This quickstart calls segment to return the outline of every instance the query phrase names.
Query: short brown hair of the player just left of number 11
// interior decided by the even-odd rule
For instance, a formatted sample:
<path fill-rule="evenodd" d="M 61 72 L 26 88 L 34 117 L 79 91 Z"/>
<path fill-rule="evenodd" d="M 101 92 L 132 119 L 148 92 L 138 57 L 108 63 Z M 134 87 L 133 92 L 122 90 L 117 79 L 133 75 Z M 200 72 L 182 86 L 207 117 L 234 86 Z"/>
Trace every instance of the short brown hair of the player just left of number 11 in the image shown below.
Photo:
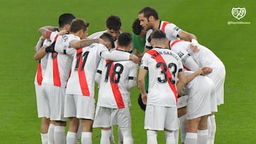
<path fill-rule="evenodd" d="M 83 20 L 81 18 L 75 18 L 70 23 L 70 32 L 71 33 L 77 33 L 81 29 L 83 31 L 86 31 L 88 26 L 89 26 L 89 23 L 87 23 L 85 20 Z"/>

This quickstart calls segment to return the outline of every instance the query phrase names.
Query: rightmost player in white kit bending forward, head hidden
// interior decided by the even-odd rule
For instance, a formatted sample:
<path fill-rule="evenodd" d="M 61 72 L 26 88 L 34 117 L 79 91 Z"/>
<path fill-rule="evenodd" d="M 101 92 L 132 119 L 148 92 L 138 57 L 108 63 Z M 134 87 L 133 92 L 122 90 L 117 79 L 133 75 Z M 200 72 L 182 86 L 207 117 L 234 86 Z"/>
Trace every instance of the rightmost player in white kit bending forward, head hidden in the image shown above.
<path fill-rule="evenodd" d="M 225 66 L 223 62 L 208 48 L 198 45 L 195 52 L 191 48 L 191 43 L 185 40 L 174 40 L 170 43 L 171 50 L 174 50 L 183 60 L 183 65 L 189 70 L 197 70 L 198 67 L 211 67 L 213 72 L 206 74 L 213 80 L 216 90 L 216 103 L 218 105 L 224 103 L 224 82 L 225 82 Z M 192 58 L 193 57 L 193 58 Z M 212 100 L 212 102 L 214 99 Z M 208 118 L 208 135 L 210 143 L 214 143 L 216 124 L 215 116 L 212 114 Z"/>

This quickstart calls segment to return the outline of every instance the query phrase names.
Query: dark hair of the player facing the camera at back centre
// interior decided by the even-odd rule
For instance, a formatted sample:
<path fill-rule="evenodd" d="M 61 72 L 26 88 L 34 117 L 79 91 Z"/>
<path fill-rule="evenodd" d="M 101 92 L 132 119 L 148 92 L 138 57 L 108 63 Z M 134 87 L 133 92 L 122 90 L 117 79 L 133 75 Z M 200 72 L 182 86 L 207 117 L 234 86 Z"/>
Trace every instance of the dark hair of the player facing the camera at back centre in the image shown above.
<path fill-rule="evenodd" d="M 109 16 L 106 21 L 106 26 L 110 30 L 119 31 L 122 26 L 121 19 L 118 16 Z"/>

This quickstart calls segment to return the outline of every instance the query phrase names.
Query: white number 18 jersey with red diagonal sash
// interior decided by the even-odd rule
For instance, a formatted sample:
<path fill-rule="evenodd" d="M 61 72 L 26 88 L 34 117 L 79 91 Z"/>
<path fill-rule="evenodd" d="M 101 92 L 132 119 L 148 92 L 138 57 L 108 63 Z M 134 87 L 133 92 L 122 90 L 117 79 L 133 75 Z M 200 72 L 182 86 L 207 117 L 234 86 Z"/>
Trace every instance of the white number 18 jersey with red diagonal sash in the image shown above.
<path fill-rule="evenodd" d="M 114 50 L 113 54 L 122 54 Z M 137 65 L 132 61 L 105 60 L 98 70 L 102 72 L 97 106 L 122 109 L 129 107 L 129 91 L 136 84 Z"/>

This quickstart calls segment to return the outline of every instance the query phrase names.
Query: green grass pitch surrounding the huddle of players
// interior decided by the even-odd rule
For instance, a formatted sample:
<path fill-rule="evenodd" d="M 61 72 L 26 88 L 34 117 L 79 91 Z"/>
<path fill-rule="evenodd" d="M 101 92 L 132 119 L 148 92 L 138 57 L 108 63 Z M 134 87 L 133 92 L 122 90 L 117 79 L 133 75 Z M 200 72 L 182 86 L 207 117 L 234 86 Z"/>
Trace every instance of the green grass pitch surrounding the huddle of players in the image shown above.
<path fill-rule="evenodd" d="M 38 28 L 57 26 L 61 13 L 74 13 L 90 23 L 89 33 L 105 29 L 111 14 L 122 19 L 124 31 L 131 32 L 132 22 L 144 6 L 154 6 L 162 20 L 175 23 L 197 36 L 199 43 L 215 52 L 226 67 L 225 104 L 216 113 L 215 143 L 254 143 L 255 111 L 255 40 L 256 2 L 247 1 L 13 1 L 0 5 L 0 143 L 40 143 L 40 123 L 36 112 L 33 79 L 36 61 L 33 47 L 39 38 Z M 228 25 L 238 21 L 233 7 L 245 7 L 240 21 L 250 25 Z M 137 106 L 137 88 L 132 90 L 132 131 L 134 143 L 146 143 L 144 112 Z M 94 143 L 100 130 L 93 132 Z M 117 138 L 117 137 L 116 137 Z M 159 143 L 164 143 L 159 133 Z"/>

